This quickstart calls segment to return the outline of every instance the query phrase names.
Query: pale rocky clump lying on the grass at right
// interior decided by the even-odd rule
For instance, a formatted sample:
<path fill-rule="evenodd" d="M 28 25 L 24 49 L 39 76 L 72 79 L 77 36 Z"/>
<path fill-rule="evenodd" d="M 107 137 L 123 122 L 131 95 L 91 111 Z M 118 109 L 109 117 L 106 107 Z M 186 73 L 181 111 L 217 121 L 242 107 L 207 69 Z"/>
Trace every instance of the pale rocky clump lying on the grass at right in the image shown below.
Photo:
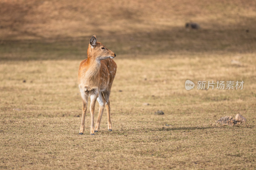
<path fill-rule="evenodd" d="M 236 124 L 240 125 L 246 123 L 246 119 L 242 115 L 237 114 L 235 119 L 232 116 L 225 116 L 217 120 L 216 123 L 220 125 L 233 126 Z"/>

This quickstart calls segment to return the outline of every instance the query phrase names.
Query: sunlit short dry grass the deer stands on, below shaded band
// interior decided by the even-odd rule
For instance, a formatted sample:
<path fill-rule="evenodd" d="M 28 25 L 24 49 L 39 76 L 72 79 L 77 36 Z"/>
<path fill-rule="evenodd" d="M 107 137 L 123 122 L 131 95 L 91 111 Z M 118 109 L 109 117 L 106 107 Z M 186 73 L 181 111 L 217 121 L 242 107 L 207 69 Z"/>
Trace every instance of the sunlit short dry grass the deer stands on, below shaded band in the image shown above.
<path fill-rule="evenodd" d="M 88 113 L 85 134 L 78 135 L 79 61 L 2 62 L 1 168 L 253 169 L 255 58 L 241 56 L 240 67 L 230 64 L 232 58 L 116 58 L 110 98 L 113 131 L 108 132 L 104 114 L 93 137 Z M 245 83 L 243 90 L 187 91 L 186 79 Z M 164 115 L 154 115 L 157 110 Z M 248 125 L 213 124 L 237 113 Z"/>

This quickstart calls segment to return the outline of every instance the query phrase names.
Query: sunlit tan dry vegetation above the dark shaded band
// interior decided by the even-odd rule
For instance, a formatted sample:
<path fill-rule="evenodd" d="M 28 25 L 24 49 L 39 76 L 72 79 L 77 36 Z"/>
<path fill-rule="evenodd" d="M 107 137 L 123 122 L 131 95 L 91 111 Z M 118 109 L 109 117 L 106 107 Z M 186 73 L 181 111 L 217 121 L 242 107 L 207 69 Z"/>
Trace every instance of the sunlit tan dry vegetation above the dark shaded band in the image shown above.
<path fill-rule="evenodd" d="M 214 2 L 214 3 L 213 3 Z M 35 1 L 1 0 L 1 37 L 38 39 L 116 35 L 184 26 L 253 29 L 255 1 Z M 254 22 L 254 23 L 253 23 Z"/>

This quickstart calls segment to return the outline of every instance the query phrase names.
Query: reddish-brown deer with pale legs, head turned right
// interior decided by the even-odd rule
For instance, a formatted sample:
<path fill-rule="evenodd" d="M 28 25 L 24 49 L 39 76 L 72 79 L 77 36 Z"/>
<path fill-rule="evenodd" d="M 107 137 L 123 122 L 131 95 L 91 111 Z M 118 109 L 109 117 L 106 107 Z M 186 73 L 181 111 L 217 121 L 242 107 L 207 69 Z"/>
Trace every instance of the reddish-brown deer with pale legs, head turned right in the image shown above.
<path fill-rule="evenodd" d="M 110 101 L 109 95 L 112 83 L 116 76 L 116 63 L 113 58 L 116 54 L 109 50 L 102 43 L 97 42 L 96 35 L 93 35 L 89 41 L 87 49 L 87 59 L 80 63 L 78 70 L 78 86 L 82 97 L 82 121 L 79 135 L 84 134 L 85 113 L 87 111 L 88 97 L 90 96 L 91 105 L 91 130 L 90 134 L 98 132 L 100 121 L 104 111 L 107 109 L 108 130 L 112 131 L 110 119 Z M 94 108 L 96 100 L 99 102 L 99 115 L 94 127 Z"/>

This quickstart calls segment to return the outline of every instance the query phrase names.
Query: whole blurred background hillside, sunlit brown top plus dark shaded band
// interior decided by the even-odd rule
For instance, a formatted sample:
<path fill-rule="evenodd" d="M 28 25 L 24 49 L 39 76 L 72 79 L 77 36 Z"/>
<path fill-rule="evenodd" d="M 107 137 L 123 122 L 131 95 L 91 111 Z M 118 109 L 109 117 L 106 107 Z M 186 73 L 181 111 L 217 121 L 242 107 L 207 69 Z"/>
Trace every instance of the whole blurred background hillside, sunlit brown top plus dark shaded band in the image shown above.
<path fill-rule="evenodd" d="M 80 59 L 93 34 L 121 57 L 256 50 L 253 0 L 0 0 L 0 7 L 4 60 Z M 201 28 L 185 29 L 190 21 Z"/>

